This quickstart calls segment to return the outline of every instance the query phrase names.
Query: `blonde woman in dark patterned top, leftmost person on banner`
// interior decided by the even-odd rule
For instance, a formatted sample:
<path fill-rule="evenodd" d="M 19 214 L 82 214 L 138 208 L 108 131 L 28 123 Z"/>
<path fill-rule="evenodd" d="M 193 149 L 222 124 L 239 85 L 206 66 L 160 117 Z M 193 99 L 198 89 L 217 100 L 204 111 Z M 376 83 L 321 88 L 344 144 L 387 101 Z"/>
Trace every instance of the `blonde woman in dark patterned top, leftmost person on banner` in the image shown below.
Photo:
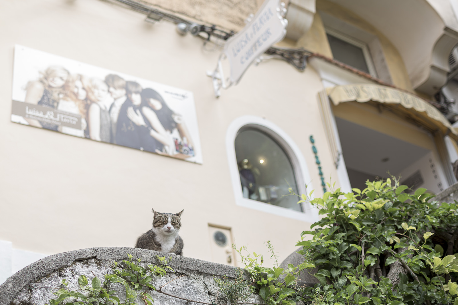
<path fill-rule="evenodd" d="M 27 84 L 24 102 L 56 109 L 70 72 L 61 66 L 50 66 L 44 72 L 40 72 L 40 74 L 42 76 L 39 80 L 31 81 Z M 52 123 L 40 123 L 34 119 L 26 120 L 30 125 L 35 127 L 43 127 L 56 131 L 59 127 Z"/>

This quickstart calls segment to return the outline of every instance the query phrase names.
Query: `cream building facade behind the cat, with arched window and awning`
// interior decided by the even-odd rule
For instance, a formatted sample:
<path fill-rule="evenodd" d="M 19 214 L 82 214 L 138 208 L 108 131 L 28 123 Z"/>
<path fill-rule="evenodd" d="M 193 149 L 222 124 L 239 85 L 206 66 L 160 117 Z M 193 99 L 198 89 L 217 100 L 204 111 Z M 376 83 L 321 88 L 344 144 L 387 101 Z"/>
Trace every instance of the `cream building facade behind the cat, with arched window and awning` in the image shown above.
<path fill-rule="evenodd" d="M 224 36 L 240 31 L 262 2 L 0 2 L 0 280 L 46 255 L 134 246 L 151 228 L 152 208 L 185 210 L 185 256 L 237 265 L 232 243 L 268 257 L 263 243 L 270 240 L 285 258 L 319 219 L 309 203 L 284 196 L 289 187 L 321 196 L 326 182 L 350 191 L 387 171 L 431 193 L 456 182 L 458 133 L 450 107 L 437 98 L 458 43 L 454 2 L 290 0 L 278 52 L 263 55 L 216 98 L 207 71 L 224 39 L 180 35 L 177 23 L 187 22 L 181 33 L 192 23 L 214 24 Z M 27 126 L 33 123 L 14 117 L 11 105 L 30 92 L 16 70 L 18 50 L 29 49 L 68 59 L 75 71 L 104 69 L 191 92 L 195 108 L 180 114 L 195 118 L 199 144 L 189 147 L 201 159 L 178 160 L 182 148 L 171 158 L 165 148 L 103 143 L 110 141 L 92 131 L 71 136 Z M 24 69 L 40 70 L 36 63 Z"/>

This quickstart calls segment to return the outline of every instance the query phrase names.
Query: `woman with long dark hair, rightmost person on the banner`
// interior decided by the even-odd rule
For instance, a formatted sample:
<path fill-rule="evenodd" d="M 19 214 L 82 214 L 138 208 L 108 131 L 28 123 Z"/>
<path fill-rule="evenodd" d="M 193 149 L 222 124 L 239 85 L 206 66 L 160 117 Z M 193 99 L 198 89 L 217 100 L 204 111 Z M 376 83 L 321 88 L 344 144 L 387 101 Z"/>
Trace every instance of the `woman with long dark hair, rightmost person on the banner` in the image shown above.
<path fill-rule="evenodd" d="M 157 153 L 180 159 L 194 155 L 194 145 L 183 118 L 167 106 L 157 91 L 151 88 L 142 91 L 141 112 L 152 127 L 150 136 L 163 144 L 164 149 L 158 149 Z M 146 124 L 139 112 L 128 112 L 128 116 L 138 126 Z"/>

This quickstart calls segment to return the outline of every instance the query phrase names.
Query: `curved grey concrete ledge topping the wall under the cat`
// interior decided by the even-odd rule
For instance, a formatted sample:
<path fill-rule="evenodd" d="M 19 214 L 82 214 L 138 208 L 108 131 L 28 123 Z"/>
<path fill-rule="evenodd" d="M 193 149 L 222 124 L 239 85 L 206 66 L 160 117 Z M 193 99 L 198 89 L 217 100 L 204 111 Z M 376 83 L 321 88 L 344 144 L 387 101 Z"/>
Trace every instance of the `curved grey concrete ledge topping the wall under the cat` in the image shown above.
<path fill-rule="evenodd" d="M 68 268 L 74 262 L 94 258 L 97 261 L 119 261 L 128 259 L 127 254 L 136 257 L 140 253 L 142 262 L 157 264 L 159 257 L 169 257 L 170 253 L 157 252 L 146 249 L 128 247 L 100 247 L 81 249 L 63 252 L 44 257 L 27 267 L 13 274 L 3 284 L 0 285 L 0 305 L 15 304 L 14 300 L 21 290 L 27 288 L 30 283 L 36 282 L 41 278 L 49 277 L 61 268 Z M 190 274 L 206 274 L 207 276 L 223 276 L 236 278 L 236 267 L 221 265 L 214 262 L 207 262 L 191 257 L 173 256 L 169 266 L 177 272 Z M 55 289 L 57 290 L 57 289 Z M 46 300 L 47 301 L 47 300 Z M 21 303 L 21 302 L 20 302 Z"/>

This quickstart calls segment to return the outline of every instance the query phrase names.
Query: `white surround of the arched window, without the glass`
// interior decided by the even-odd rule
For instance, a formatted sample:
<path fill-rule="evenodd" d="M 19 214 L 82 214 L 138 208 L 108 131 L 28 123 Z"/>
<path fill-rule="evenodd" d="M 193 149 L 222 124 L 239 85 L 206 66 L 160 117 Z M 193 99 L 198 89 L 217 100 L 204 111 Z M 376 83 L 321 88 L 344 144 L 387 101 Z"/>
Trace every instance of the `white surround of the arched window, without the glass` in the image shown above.
<path fill-rule="evenodd" d="M 243 197 L 242 187 L 240 184 L 240 173 L 237 165 L 237 158 L 235 156 L 235 138 L 239 134 L 240 130 L 243 130 L 243 128 L 254 128 L 272 137 L 284 149 L 289 157 L 291 166 L 293 166 L 294 177 L 296 178 L 299 194 L 304 194 L 306 191 L 310 193 L 313 190 L 304 156 L 302 155 L 299 147 L 294 143 L 293 139 L 291 139 L 289 135 L 277 125 L 264 118 L 256 116 L 242 116 L 236 118 L 232 123 L 230 123 L 226 133 L 226 151 L 232 187 L 234 190 L 235 204 L 290 219 L 306 222 L 317 221 L 319 219 L 318 211 L 316 208 L 313 208 L 310 203 L 302 203 L 304 212 L 298 212 Z M 305 184 L 307 184 L 306 190 Z"/>

